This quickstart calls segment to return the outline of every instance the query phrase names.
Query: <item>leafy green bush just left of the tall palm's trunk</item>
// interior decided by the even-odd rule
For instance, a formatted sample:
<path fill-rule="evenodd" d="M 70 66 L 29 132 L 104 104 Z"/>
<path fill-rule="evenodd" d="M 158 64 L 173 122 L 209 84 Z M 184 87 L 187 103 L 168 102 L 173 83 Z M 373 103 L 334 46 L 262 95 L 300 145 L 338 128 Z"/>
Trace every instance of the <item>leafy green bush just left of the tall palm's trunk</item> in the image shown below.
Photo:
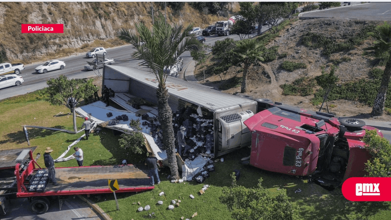
<path fill-rule="evenodd" d="M 120 147 L 127 150 L 126 157 L 129 158 L 129 154 L 135 161 L 128 161 L 130 163 L 142 163 L 147 156 L 147 148 L 145 147 L 145 139 L 140 132 L 140 120 L 132 119 L 129 126 L 134 130 L 132 134 L 121 134 L 119 139 Z"/>

